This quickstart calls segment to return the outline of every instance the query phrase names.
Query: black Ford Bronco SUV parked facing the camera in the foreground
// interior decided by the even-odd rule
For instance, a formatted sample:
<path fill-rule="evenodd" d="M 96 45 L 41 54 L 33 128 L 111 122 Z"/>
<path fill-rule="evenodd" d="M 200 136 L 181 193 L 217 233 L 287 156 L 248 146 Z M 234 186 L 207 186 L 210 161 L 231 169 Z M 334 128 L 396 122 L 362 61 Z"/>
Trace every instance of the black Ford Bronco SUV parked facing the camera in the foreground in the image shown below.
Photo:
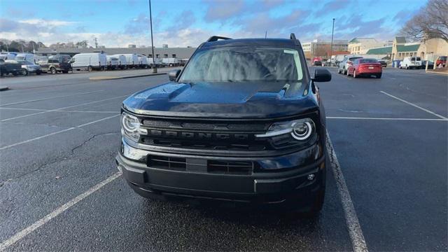
<path fill-rule="evenodd" d="M 325 112 L 300 42 L 212 36 L 121 109 L 118 169 L 139 195 L 284 205 L 325 195 Z M 250 204 L 253 206 L 253 204 Z"/>

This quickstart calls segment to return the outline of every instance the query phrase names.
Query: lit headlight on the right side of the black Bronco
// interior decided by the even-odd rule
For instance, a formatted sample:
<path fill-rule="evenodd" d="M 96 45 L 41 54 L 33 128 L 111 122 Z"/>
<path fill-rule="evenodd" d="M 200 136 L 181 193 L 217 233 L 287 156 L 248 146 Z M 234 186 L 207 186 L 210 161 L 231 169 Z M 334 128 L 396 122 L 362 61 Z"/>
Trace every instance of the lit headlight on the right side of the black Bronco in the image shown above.
<path fill-rule="evenodd" d="M 294 139 L 304 141 L 309 139 L 316 131 L 313 120 L 304 118 L 290 122 L 274 123 L 265 134 L 256 134 L 255 137 L 275 137 L 290 134 Z"/>

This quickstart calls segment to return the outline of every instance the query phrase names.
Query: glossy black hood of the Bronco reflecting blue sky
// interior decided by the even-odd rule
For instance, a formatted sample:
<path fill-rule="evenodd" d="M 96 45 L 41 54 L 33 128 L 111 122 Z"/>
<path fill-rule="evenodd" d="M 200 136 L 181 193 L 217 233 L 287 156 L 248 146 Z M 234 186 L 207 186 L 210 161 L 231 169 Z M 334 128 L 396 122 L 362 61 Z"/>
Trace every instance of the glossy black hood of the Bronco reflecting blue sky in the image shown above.
<path fill-rule="evenodd" d="M 300 83 L 165 83 L 132 94 L 124 109 L 137 114 L 207 118 L 279 118 L 317 109 Z"/>

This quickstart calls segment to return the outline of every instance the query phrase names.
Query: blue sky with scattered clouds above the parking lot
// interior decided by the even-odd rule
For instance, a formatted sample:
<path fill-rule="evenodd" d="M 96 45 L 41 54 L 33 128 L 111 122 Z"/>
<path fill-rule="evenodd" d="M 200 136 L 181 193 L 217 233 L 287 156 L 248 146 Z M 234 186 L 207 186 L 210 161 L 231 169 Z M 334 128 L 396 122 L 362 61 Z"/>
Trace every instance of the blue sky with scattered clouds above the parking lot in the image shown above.
<path fill-rule="evenodd" d="M 426 0 L 152 0 L 154 43 L 197 46 L 211 35 L 288 37 L 302 42 L 391 39 Z M 151 45 L 148 0 L 0 0 L 0 38 L 82 40 L 107 47 Z"/>

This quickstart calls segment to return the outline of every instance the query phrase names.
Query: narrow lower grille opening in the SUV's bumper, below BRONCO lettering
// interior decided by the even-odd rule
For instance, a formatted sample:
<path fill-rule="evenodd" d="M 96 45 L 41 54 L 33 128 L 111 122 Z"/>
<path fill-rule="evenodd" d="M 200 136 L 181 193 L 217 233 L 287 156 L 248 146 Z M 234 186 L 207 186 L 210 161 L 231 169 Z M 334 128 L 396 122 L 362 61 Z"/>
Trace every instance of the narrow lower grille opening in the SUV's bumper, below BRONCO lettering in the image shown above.
<path fill-rule="evenodd" d="M 202 160 L 197 158 L 174 158 L 148 155 L 148 167 L 181 172 L 209 174 L 250 175 L 254 169 L 251 161 Z"/>

